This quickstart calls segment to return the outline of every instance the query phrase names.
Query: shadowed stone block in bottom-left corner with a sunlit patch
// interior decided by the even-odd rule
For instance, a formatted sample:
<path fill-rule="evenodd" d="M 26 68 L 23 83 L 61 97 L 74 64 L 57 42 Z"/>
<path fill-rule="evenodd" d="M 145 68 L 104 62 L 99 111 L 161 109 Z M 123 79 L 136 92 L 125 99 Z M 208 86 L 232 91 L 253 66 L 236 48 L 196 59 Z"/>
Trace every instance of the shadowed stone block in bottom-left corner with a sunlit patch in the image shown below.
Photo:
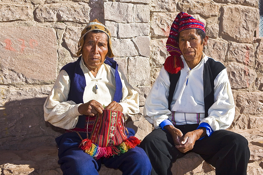
<path fill-rule="evenodd" d="M 2 158 L 1 169 L 7 174 L 62 174 L 57 163 L 56 146 L 40 146 L 33 150 L 1 150 L 0 153 L 5 157 Z"/>

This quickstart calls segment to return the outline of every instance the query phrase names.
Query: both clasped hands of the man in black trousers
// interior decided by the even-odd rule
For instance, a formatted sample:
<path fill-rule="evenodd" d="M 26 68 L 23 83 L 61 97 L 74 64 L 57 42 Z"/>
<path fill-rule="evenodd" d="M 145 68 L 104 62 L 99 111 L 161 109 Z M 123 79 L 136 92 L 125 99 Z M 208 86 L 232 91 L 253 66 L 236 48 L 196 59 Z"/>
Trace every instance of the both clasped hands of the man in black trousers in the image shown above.
<path fill-rule="evenodd" d="M 174 145 L 180 152 L 186 153 L 193 149 L 195 141 L 206 135 L 206 129 L 200 127 L 200 129 L 191 131 L 183 135 L 183 133 L 175 128 L 173 125 L 166 125 L 164 127 L 173 137 Z"/>

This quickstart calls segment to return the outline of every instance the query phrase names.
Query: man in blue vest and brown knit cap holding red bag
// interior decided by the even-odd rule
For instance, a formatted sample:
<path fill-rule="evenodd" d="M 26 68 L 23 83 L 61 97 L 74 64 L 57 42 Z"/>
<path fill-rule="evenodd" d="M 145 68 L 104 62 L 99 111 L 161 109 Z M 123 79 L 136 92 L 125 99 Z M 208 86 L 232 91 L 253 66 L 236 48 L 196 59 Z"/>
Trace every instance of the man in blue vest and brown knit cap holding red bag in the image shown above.
<path fill-rule="evenodd" d="M 78 46 L 77 56 L 82 56 L 60 70 L 44 104 L 45 121 L 66 131 L 55 139 L 63 174 L 98 174 L 101 164 L 123 174 L 150 174 L 148 156 L 130 139 L 134 130 L 124 132 L 122 116 L 139 112 L 139 96 L 112 58 L 109 30 L 97 19 L 91 21 Z M 105 112 L 110 119 L 102 117 Z M 100 135 L 103 131 L 108 135 Z M 120 145 L 113 144 L 118 141 Z"/>

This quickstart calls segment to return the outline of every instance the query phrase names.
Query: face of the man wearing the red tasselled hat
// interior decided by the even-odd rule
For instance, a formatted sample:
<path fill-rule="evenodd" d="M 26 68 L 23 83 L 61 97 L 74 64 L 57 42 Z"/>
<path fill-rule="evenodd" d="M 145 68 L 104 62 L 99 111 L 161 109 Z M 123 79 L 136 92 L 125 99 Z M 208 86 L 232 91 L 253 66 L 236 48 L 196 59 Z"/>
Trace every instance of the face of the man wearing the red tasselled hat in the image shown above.
<path fill-rule="evenodd" d="M 200 35 L 197 35 L 195 30 L 187 29 L 179 34 L 179 48 L 186 62 L 194 61 L 199 63 L 202 58 L 203 47 L 207 43 L 208 37 L 206 36 L 202 43 Z"/>

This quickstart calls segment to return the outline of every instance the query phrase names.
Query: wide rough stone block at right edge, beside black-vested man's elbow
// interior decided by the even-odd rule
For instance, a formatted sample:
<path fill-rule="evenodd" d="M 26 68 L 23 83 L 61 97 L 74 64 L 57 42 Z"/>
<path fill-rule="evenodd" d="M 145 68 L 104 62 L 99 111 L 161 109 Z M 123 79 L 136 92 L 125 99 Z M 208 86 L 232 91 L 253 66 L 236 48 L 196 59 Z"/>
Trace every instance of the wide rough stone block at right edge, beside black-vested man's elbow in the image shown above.
<path fill-rule="evenodd" d="M 241 92 L 237 95 L 236 106 L 240 108 L 240 113 L 252 114 L 252 115 L 260 114 L 260 116 L 263 117 L 262 99 L 263 99 L 263 93 L 260 91 Z"/>

